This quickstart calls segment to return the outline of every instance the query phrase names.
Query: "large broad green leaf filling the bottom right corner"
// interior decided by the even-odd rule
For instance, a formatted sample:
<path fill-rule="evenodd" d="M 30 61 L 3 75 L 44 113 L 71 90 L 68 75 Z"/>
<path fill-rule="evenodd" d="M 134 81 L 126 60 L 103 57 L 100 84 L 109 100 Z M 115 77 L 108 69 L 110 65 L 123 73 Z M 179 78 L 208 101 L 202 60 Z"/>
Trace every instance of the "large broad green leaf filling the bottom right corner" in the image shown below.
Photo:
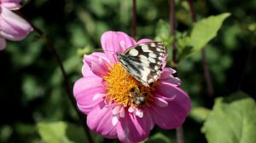
<path fill-rule="evenodd" d="M 238 92 L 218 98 L 202 132 L 209 143 L 256 142 L 256 104 L 247 94 Z"/>

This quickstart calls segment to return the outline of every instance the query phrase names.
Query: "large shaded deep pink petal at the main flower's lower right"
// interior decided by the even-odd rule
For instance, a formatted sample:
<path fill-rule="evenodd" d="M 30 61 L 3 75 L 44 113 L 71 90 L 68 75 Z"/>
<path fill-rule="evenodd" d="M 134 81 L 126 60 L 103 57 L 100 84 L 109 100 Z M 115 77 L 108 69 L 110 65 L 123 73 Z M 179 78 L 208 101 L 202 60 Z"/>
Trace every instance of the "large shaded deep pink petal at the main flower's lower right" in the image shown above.
<path fill-rule="evenodd" d="M 188 94 L 171 83 L 160 83 L 156 85 L 155 89 L 155 93 L 173 99 L 167 100 L 167 107 L 151 106 L 154 123 L 162 129 L 178 128 L 183 124 L 191 110 Z"/>

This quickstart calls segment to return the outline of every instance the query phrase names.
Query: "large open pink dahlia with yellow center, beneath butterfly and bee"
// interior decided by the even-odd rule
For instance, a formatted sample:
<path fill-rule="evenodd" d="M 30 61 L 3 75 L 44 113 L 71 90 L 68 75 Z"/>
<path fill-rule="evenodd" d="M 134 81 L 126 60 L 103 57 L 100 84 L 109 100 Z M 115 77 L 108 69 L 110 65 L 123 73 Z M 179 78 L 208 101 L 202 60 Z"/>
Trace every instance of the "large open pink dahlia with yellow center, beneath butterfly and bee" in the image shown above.
<path fill-rule="evenodd" d="M 81 112 L 87 116 L 90 129 L 121 142 L 147 139 L 154 124 L 162 129 L 177 129 L 188 116 L 191 105 L 188 94 L 178 88 L 180 80 L 175 72 L 163 64 L 163 72 L 151 87 L 144 87 L 120 66 L 115 52 L 148 42 L 136 42 L 120 31 L 107 31 L 102 35 L 104 53 L 84 55 L 81 77 L 73 87 L 73 94 Z M 147 93 L 147 103 L 133 104 L 128 96 L 131 88 Z"/>

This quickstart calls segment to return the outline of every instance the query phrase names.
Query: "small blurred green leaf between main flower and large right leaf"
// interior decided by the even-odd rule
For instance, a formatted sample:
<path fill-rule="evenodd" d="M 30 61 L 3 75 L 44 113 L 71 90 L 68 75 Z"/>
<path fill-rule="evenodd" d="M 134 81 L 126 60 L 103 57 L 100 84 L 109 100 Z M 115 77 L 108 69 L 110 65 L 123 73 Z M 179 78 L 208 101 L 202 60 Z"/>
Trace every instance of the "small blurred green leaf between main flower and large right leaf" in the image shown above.
<path fill-rule="evenodd" d="M 211 110 L 205 108 L 205 107 L 195 107 L 192 108 L 189 117 L 192 117 L 197 122 L 203 122 L 207 119 L 209 113 Z"/>

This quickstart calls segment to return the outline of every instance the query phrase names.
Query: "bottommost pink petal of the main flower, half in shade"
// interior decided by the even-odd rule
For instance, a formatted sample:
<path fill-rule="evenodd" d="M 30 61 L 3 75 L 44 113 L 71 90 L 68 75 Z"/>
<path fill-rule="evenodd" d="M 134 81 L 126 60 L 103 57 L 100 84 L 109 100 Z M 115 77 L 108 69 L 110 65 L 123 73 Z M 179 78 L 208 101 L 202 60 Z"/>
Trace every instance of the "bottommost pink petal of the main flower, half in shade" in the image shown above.
<path fill-rule="evenodd" d="M 121 142 L 139 142 L 148 138 L 154 122 L 150 113 L 144 112 L 143 114 L 141 118 L 125 112 L 125 117 L 119 118 L 117 133 Z"/>

